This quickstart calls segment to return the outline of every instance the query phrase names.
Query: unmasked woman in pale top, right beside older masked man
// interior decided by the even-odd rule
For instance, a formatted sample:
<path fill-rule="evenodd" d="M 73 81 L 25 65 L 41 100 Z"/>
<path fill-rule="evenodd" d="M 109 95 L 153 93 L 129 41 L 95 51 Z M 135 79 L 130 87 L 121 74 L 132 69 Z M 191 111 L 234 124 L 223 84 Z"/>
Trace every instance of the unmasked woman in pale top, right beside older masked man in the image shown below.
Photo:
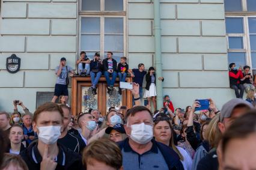
<path fill-rule="evenodd" d="M 171 147 L 180 157 L 184 170 L 190 170 L 192 168 L 192 158 L 183 148 L 174 145 L 174 130 L 172 129 L 169 117 L 166 117 L 165 114 L 159 114 L 154 118 L 153 130 L 156 141 Z"/>

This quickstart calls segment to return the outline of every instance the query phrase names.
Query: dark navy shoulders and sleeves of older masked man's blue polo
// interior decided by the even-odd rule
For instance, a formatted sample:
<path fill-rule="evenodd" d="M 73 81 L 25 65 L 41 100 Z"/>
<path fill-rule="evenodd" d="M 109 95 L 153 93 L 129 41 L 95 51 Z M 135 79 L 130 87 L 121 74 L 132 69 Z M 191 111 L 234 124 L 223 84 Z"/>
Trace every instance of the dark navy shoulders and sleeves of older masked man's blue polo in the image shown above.
<path fill-rule="evenodd" d="M 120 150 L 122 150 L 124 148 L 124 145 L 127 145 L 128 142 L 129 138 L 124 139 L 124 141 L 118 142 Z M 172 148 L 160 142 L 156 142 L 154 139 L 152 139 L 151 142 L 153 142 L 153 144 L 156 144 L 157 148 L 159 148 L 169 170 L 184 169 L 182 163 L 180 162 L 180 157 L 178 157 L 178 154 L 175 153 L 175 151 L 172 150 Z"/>

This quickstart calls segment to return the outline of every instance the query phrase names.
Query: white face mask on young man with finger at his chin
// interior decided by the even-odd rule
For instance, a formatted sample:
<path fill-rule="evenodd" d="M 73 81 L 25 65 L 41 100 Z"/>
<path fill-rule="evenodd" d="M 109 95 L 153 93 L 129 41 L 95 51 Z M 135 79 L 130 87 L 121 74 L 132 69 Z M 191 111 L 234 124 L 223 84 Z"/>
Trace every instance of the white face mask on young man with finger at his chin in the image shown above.
<path fill-rule="evenodd" d="M 38 139 L 47 145 L 54 144 L 61 136 L 61 126 L 41 126 L 37 129 Z"/>

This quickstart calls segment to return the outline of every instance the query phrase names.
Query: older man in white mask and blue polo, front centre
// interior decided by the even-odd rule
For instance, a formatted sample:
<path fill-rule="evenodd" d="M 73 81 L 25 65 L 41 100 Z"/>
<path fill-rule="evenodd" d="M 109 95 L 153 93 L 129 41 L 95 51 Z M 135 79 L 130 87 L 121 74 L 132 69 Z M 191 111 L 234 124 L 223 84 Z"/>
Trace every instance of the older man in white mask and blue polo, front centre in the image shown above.
<path fill-rule="evenodd" d="M 184 169 L 174 150 L 154 141 L 149 109 L 136 106 L 127 111 L 125 121 L 129 138 L 119 143 L 124 169 Z"/>

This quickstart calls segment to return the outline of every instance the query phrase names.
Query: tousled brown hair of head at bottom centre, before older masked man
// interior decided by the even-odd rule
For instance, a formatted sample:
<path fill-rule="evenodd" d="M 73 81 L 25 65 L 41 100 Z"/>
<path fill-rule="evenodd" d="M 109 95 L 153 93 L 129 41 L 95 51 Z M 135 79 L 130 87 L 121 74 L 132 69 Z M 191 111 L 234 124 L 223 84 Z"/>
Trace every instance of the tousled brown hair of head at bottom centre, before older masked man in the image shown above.
<path fill-rule="evenodd" d="M 88 164 L 93 165 L 92 159 L 103 162 L 115 169 L 120 169 L 123 163 L 120 148 L 115 142 L 105 138 L 93 141 L 85 148 L 82 155 L 84 168 Z"/>

